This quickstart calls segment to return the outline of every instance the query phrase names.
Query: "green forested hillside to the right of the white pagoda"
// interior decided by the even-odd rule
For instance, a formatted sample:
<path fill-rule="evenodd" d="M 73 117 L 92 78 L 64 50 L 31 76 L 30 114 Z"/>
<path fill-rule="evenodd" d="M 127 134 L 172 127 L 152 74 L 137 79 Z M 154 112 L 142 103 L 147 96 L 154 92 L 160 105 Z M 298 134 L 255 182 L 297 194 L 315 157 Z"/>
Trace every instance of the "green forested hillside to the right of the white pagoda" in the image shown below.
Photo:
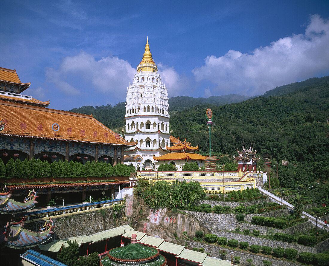
<path fill-rule="evenodd" d="M 195 106 L 171 115 L 170 127 L 175 137 L 187 138 L 198 144 L 201 152 L 208 152 L 205 113 L 211 108 L 217 126 L 212 128 L 215 153 L 236 155 L 242 145 L 252 146 L 261 156 L 290 162 L 278 170 L 283 186 L 292 186 L 294 181 L 326 181 L 329 177 L 328 94 L 329 82 L 322 82 L 283 96 L 257 97 L 220 107 Z"/>

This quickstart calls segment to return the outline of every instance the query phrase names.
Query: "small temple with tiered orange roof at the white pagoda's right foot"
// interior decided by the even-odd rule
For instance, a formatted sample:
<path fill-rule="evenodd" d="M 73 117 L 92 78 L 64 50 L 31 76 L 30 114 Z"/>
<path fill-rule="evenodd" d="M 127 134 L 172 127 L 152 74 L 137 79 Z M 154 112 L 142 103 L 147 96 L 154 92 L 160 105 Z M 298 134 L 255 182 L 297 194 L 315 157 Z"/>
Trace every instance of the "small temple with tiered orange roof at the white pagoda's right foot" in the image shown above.
<path fill-rule="evenodd" d="M 173 139 L 174 137 L 170 136 L 170 138 Z M 187 142 L 186 139 L 184 141 L 180 141 L 179 138 L 175 138 L 173 141 L 175 143 L 173 146 L 166 146 L 166 151 L 169 151 L 169 153 L 153 157 L 153 160 L 158 161 L 158 163 L 156 164 L 156 169 L 158 169 L 160 164 L 165 163 L 171 163 L 175 165 L 177 171 L 182 171 L 182 167 L 186 162 L 196 162 L 199 167 L 202 167 L 204 165 L 205 159 L 207 157 L 195 153 L 199 150 L 198 146 L 191 146 L 191 144 Z"/>

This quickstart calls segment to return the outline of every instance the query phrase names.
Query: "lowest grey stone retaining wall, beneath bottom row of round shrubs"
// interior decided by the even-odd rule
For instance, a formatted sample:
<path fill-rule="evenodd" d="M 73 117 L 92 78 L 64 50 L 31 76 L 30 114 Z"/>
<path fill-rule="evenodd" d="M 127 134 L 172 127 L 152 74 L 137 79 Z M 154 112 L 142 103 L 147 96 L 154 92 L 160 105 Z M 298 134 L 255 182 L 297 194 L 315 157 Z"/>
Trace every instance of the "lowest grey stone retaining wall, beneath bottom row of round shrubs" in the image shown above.
<path fill-rule="evenodd" d="M 180 240 L 180 244 L 181 245 L 185 245 L 185 243 L 189 246 L 189 248 L 204 248 L 205 249 L 205 253 L 209 253 L 211 254 L 211 256 L 214 257 L 219 257 L 220 258 L 220 254 L 219 251 L 220 250 L 226 250 L 227 251 L 227 255 L 226 255 L 226 259 L 230 260 L 231 258 L 231 252 L 233 252 L 233 256 L 239 256 L 241 257 L 240 259 L 240 264 L 241 265 L 249 265 L 249 263 L 246 261 L 246 259 L 250 258 L 252 259 L 252 263 L 251 264 L 255 264 L 256 266 L 264 266 L 263 264 L 263 260 L 268 260 L 272 262 L 272 266 L 300 266 L 301 264 L 297 264 L 294 262 L 290 262 L 290 261 L 285 261 L 285 260 L 281 260 L 281 259 L 277 259 L 277 258 L 269 258 L 266 255 L 263 254 L 254 254 L 248 251 L 240 251 L 240 250 L 233 250 L 233 249 L 229 249 L 229 248 L 222 248 L 220 246 L 217 245 L 212 245 L 212 244 L 207 244 L 207 243 L 199 243 L 193 240 Z"/>

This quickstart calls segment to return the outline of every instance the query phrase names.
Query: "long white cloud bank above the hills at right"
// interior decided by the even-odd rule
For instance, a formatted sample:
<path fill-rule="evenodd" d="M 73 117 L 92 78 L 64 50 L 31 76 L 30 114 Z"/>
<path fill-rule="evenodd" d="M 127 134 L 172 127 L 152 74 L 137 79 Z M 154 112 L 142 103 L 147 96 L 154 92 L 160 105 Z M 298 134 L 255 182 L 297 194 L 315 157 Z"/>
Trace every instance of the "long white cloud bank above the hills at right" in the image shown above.
<path fill-rule="evenodd" d="M 329 21 L 313 15 L 304 34 L 291 35 L 251 53 L 210 55 L 192 70 L 196 81 L 214 84 L 212 94 L 263 94 L 276 86 L 329 71 Z M 206 94 L 210 94 L 209 91 Z"/>

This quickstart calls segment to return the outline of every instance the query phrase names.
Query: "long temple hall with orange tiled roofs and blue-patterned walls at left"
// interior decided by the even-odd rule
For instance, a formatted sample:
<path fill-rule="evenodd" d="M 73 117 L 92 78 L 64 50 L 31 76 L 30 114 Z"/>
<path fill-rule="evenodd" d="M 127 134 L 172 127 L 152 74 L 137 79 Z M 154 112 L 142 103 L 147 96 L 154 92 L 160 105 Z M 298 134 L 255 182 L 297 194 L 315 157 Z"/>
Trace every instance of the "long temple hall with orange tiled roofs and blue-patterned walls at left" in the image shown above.
<path fill-rule="evenodd" d="M 20 94 L 31 83 L 21 83 L 16 70 L 0 68 L 0 159 L 123 162 L 123 151 L 135 147 L 92 115 L 45 108 L 32 96 Z"/>

